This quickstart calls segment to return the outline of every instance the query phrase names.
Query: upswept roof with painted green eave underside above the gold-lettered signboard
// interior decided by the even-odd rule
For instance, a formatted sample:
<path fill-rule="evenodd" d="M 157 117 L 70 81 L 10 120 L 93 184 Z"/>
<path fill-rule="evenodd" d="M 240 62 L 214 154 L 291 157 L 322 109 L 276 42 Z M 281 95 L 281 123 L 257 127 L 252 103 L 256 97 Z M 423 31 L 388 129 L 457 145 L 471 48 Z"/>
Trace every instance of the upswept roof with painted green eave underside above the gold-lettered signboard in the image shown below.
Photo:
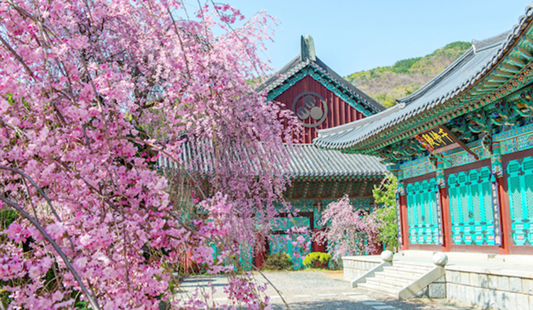
<path fill-rule="evenodd" d="M 533 7 L 511 31 L 474 42 L 465 54 L 397 106 L 318 131 L 319 148 L 373 153 L 512 94 L 531 82 Z"/>

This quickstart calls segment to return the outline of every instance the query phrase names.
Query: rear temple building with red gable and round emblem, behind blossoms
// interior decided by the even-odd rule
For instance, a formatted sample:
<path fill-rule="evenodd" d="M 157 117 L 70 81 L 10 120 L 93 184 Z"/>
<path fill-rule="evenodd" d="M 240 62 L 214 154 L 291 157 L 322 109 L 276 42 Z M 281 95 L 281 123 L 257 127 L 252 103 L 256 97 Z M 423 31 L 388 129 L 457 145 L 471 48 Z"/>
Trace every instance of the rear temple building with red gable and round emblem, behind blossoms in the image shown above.
<path fill-rule="evenodd" d="M 375 205 L 372 189 L 381 182 L 386 170 L 377 157 L 316 148 L 311 142 L 318 136 L 317 130 L 364 120 L 385 108 L 316 57 L 310 35 L 302 36 L 300 55 L 257 91 L 266 92 L 270 101 L 285 104 L 303 126 L 301 135 L 293 135 L 300 144 L 290 150 L 291 187 L 285 193 L 296 216 L 289 218 L 280 209 L 266 247 L 269 253 L 291 253 L 291 242 L 284 238 L 286 231 L 293 226 L 310 231 L 321 229 L 321 211 L 344 194 L 348 194 L 356 210 L 371 211 Z M 325 246 L 313 243 L 310 251 L 323 252 Z M 261 255 L 256 255 L 259 266 L 262 262 L 257 256 Z"/>

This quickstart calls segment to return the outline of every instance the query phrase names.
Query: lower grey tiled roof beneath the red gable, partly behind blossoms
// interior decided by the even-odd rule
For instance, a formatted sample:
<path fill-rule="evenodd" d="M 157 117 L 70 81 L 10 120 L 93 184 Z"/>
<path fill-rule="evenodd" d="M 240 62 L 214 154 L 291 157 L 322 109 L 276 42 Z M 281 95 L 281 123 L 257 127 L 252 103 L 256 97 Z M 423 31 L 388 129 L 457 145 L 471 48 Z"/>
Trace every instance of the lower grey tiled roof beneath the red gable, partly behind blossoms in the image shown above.
<path fill-rule="evenodd" d="M 311 144 L 285 145 L 290 164 L 287 175 L 291 177 L 372 177 L 384 175 L 387 168 L 381 160 L 370 155 L 348 155 L 339 151 L 321 150 Z M 178 160 L 188 170 L 202 175 L 214 172 L 214 156 L 208 147 L 191 147 L 183 144 L 183 152 Z M 247 153 L 248 156 L 251 156 Z M 160 157 L 161 168 L 177 168 L 176 162 L 168 157 Z"/>

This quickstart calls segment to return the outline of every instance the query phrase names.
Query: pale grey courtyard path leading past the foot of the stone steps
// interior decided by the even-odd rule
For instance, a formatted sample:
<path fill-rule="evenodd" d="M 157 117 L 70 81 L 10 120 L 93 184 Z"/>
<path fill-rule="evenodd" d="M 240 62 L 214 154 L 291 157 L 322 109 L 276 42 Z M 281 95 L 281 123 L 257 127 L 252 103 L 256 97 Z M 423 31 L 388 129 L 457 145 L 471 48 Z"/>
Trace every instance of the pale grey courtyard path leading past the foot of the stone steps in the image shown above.
<path fill-rule="evenodd" d="M 350 283 L 342 279 L 340 272 L 265 272 L 266 277 L 279 289 L 281 296 L 291 310 L 451 310 L 469 309 L 449 306 L 443 303 L 423 303 L 414 301 L 397 301 L 384 294 L 351 289 Z M 264 283 L 261 275 L 254 273 L 257 281 Z M 225 277 L 188 277 L 182 282 L 183 294 L 190 294 L 197 288 L 208 287 L 212 282 L 218 289 L 211 300 L 216 304 L 227 304 L 227 297 L 222 286 L 227 283 Z M 272 309 L 287 309 L 279 294 L 269 286 L 266 295 L 271 298 Z"/>

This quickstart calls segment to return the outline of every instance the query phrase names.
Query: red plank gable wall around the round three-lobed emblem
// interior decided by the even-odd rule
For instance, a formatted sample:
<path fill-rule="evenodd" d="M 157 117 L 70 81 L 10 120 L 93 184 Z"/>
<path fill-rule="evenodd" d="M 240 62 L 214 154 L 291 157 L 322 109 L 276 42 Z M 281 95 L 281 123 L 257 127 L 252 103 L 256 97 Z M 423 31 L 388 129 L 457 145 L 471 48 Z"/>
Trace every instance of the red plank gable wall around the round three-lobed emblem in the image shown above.
<path fill-rule="evenodd" d="M 350 123 L 352 121 L 357 121 L 358 119 L 364 118 L 359 111 L 352 108 L 350 104 L 340 99 L 338 96 L 330 92 L 327 88 L 323 87 L 322 84 L 316 82 L 311 76 L 306 76 L 300 81 L 296 82 L 292 87 L 287 89 L 285 92 L 277 96 L 274 101 L 282 102 L 286 105 L 286 109 L 292 110 L 293 101 L 302 92 L 316 92 L 320 94 L 326 104 L 328 105 L 328 116 L 326 116 L 325 121 L 315 128 L 303 128 L 303 133 L 298 138 L 298 143 L 311 143 L 314 138 L 318 135 L 316 133 L 317 129 L 331 128 L 334 126 L 343 125 L 345 123 Z M 296 103 L 296 109 L 303 106 L 303 96 L 298 99 Z M 321 104 L 317 102 L 317 106 L 321 107 Z M 307 118 L 305 123 L 315 123 L 311 117 Z"/>

